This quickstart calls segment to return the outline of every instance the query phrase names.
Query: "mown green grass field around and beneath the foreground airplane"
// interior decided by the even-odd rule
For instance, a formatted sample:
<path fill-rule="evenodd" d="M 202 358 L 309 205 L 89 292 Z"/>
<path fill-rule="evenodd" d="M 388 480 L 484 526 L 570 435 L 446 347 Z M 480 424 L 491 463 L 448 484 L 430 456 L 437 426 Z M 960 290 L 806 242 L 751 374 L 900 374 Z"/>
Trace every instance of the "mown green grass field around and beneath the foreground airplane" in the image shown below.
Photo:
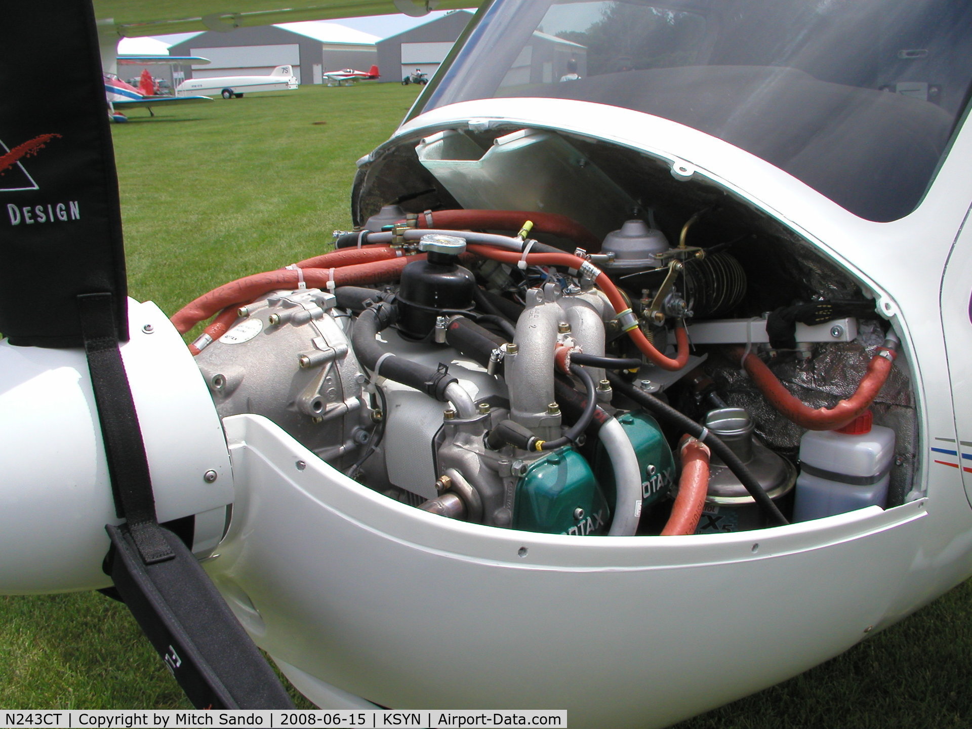
<path fill-rule="evenodd" d="M 355 160 L 416 94 L 303 87 L 156 119 L 133 112 L 114 127 L 130 294 L 171 314 L 232 278 L 326 250 L 330 231 L 350 225 Z M 972 726 L 970 611 L 966 583 L 843 656 L 679 729 Z M 188 706 L 120 604 L 96 593 L 0 597 L 0 707 Z"/>

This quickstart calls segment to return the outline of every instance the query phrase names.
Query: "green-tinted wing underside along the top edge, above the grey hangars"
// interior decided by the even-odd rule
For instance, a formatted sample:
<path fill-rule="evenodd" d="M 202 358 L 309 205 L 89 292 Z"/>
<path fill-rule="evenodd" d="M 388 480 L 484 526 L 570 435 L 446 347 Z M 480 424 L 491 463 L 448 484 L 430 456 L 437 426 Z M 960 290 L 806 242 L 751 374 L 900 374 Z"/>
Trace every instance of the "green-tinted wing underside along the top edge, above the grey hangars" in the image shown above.
<path fill-rule="evenodd" d="M 482 0 L 227 0 L 211 12 L 206 0 L 94 0 L 98 18 L 111 18 L 120 36 L 133 38 L 167 33 L 231 30 L 296 20 L 404 13 L 422 16 L 431 10 L 478 7 Z M 105 20 L 103 19 L 102 22 Z"/>

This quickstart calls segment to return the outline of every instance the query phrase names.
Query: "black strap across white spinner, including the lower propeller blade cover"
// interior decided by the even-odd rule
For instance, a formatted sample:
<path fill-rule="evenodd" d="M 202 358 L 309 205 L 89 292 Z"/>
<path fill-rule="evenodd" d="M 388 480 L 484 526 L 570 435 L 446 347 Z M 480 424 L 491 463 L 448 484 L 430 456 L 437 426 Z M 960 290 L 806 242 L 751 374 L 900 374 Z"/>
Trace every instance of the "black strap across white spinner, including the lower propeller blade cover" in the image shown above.
<path fill-rule="evenodd" d="M 94 401 L 118 515 L 107 571 L 124 604 L 199 709 L 291 709 L 190 549 L 156 520 L 145 445 L 115 333 L 113 295 L 78 296 Z"/>

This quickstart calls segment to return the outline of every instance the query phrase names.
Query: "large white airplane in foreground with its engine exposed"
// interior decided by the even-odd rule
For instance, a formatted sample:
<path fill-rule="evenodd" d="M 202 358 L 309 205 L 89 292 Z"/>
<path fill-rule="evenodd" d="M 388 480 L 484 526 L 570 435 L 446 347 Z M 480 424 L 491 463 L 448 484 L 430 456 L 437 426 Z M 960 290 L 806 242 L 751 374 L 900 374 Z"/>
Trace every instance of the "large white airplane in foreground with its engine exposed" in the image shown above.
<path fill-rule="evenodd" d="M 972 573 L 970 14 L 495 0 L 360 160 L 342 250 L 169 320 L 77 283 L 119 237 L 8 249 L 0 591 L 114 578 L 152 625 L 138 585 L 181 606 L 156 572 L 195 565 L 161 521 L 318 706 L 574 728 L 666 726 L 893 625 Z M 57 232 L 26 224 L 43 190 L 4 192 L 11 235 Z M 102 275 L 38 296 L 51 260 Z"/>

